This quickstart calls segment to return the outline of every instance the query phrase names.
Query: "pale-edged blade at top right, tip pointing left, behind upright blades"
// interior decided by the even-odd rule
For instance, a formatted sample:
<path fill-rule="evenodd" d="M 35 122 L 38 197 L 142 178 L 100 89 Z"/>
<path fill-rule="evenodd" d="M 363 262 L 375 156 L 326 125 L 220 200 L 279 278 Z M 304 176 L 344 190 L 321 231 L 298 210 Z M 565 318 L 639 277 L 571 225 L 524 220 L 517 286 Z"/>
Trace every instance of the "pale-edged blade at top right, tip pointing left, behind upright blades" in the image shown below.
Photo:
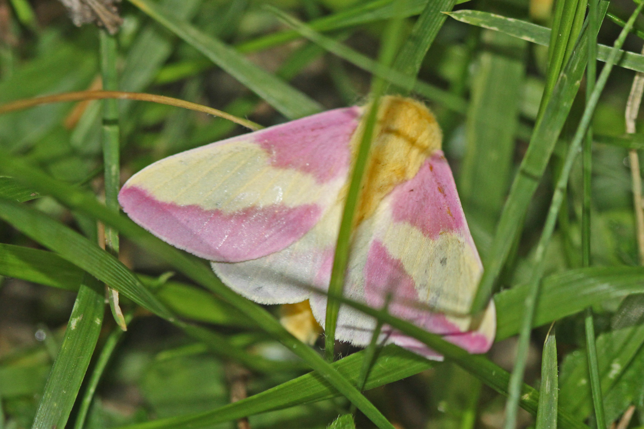
<path fill-rule="evenodd" d="M 600 9 L 603 7 L 600 6 Z M 544 46 L 549 44 L 550 29 L 538 24 L 478 10 L 459 10 L 450 12 L 448 15 L 463 23 L 497 30 L 532 43 Z M 616 66 L 635 70 L 636 72 L 644 72 L 644 55 L 630 51 L 620 51 L 620 53 L 621 56 L 617 64 L 615 64 Z M 599 61 L 607 61 L 610 54 L 610 46 L 605 44 L 597 45 L 597 59 Z"/>

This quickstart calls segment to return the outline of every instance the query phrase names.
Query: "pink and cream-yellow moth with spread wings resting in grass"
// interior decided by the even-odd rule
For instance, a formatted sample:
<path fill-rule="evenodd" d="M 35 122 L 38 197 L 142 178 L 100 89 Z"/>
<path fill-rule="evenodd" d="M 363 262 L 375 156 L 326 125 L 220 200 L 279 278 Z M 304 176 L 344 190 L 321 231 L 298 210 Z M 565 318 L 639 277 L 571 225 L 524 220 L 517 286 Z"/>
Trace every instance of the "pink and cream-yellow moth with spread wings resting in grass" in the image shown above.
<path fill-rule="evenodd" d="M 325 111 L 214 142 L 139 171 L 118 196 L 130 218 L 212 261 L 234 291 L 263 304 L 309 300 L 324 326 L 348 177 L 365 108 Z M 431 112 L 381 100 L 351 238 L 344 294 L 440 334 L 471 353 L 494 339 L 493 302 L 467 315 L 482 274 Z M 336 338 L 370 342 L 375 319 L 343 305 Z M 383 339 L 433 359 L 416 339 Z"/>

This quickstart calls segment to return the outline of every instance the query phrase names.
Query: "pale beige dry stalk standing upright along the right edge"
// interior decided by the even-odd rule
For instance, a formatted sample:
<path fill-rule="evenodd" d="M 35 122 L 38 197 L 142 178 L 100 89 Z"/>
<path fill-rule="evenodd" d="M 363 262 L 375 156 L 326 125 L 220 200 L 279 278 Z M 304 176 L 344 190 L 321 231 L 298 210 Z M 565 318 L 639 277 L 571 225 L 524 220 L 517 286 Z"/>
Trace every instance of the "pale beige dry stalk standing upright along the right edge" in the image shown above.
<path fill-rule="evenodd" d="M 642 49 L 642 53 L 644 54 L 644 48 Z M 630 87 L 629 100 L 626 104 L 626 132 L 629 134 L 636 132 L 635 122 L 638 117 L 642 93 L 644 93 L 644 73 L 638 72 L 633 79 L 633 84 Z M 639 264 L 644 265 L 644 209 L 642 207 L 642 180 L 639 174 L 639 158 L 636 149 L 630 149 L 629 161 L 633 188 L 633 205 L 637 225 Z"/>

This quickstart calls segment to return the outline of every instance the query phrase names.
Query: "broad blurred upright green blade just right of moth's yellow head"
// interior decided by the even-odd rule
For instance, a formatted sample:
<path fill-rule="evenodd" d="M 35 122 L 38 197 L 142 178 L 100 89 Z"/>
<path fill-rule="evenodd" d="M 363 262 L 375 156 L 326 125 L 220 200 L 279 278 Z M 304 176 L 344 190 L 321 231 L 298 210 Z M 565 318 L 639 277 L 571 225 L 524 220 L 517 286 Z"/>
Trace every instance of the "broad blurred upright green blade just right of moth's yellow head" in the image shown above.
<path fill-rule="evenodd" d="M 481 40 L 488 49 L 478 55 L 472 79 L 459 195 L 469 213 L 491 233 L 513 168 L 527 43 L 491 30 L 483 30 Z"/>

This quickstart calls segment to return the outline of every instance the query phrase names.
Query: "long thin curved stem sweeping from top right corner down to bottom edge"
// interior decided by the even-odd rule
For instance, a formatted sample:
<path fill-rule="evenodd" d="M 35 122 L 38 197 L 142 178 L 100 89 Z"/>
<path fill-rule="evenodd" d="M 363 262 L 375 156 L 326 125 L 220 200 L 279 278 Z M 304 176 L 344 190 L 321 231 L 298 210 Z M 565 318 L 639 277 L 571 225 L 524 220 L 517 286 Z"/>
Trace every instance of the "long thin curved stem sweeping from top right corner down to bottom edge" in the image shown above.
<path fill-rule="evenodd" d="M 550 242 L 550 238 L 554 231 L 554 225 L 556 223 L 556 218 L 559 212 L 559 208 L 562 204 L 564 192 L 568 183 L 568 176 L 573 167 L 574 159 L 580 150 L 582 140 L 585 138 L 588 126 L 592 119 L 592 113 L 594 112 L 597 102 L 601 95 L 606 81 L 608 80 L 609 74 L 611 73 L 612 66 L 615 61 L 618 59 L 618 54 L 621 46 L 623 45 L 627 34 L 629 33 L 630 28 L 632 28 L 633 23 L 635 22 L 636 17 L 638 17 L 639 12 L 641 11 L 644 3 L 640 3 L 635 12 L 630 16 L 630 19 L 621 32 L 618 39 L 613 45 L 611 51 L 611 56 L 609 57 L 606 65 L 601 70 L 599 79 L 594 90 L 591 93 L 591 96 L 587 100 L 585 109 L 583 111 L 582 119 L 580 124 L 574 133 L 573 140 L 570 144 L 568 155 L 566 156 L 564 168 L 560 178 L 557 181 L 557 187 L 554 191 L 553 200 L 548 211 L 547 218 L 545 220 L 544 230 L 539 239 L 538 245 L 535 250 L 535 257 L 533 262 L 533 274 L 531 275 L 531 283 L 529 294 L 526 297 L 525 307 L 524 307 L 524 318 L 521 323 L 521 330 L 519 334 L 519 343 L 516 354 L 516 361 L 514 369 L 512 372 L 512 377 L 510 379 L 508 392 L 509 396 L 506 403 L 506 424 L 505 429 L 514 429 L 516 426 L 516 412 L 518 409 L 519 397 L 521 394 L 521 385 L 524 377 L 524 370 L 526 368 L 526 358 L 527 358 L 527 349 L 530 342 L 530 331 L 532 329 L 532 322 L 535 314 L 535 305 L 536 299 L 539 294 L 539 287 L 541 285 L 541 276 L 544 270 L 544 254 L 545 248 Z M 584 43 L 585 44 L 585 43 Z M 579 46 L 579 45 L 578 45 Z M 553 97 L 554 99 L 554 97 Z"/>

